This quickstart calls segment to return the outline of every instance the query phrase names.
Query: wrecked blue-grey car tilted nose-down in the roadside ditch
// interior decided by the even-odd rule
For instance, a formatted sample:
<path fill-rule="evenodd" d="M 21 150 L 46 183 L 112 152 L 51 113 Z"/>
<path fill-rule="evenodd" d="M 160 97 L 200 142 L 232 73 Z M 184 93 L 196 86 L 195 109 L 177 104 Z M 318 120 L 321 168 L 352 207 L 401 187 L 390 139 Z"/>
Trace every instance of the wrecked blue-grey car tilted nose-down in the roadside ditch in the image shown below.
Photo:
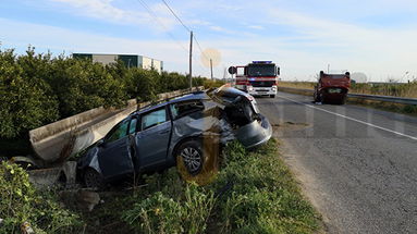
<path fill-rule="evenodd" d="M 82 153 L 77 170 L 88 187 L 127 174 L 162 171 L 179 162 L 194 176 L 213 148 L 233 139 L 252 148 L 271 135 L 269 121 L 250 95 L 221 87 L 133 112 Z"/>

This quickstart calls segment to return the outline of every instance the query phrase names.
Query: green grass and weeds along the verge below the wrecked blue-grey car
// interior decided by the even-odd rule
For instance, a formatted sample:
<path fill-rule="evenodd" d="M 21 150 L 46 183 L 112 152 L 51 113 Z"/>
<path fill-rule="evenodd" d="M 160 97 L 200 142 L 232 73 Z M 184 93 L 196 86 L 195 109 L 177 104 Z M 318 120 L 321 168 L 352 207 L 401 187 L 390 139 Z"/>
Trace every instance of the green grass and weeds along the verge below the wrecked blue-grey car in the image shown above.
<path fill-rule="evenodd" d="M 23 171 L 19 173 L 26 180 Z M 19 202 L 27 204 L 28 208 L 2 211 L 0 218 L 8 218 L 7 233 L 19 233 L 24 221 L 47 233 L 317 233 L 321 230 L 320 215 L 302 196 L 274 139 L 250 151 L 238 143 L 229 144 L 220 157 L 219 173 L 209 185 L 184 182 L 174 168 L 143 180 L 142 185 L 131 189 L 100 193 L 103 202 L 90 212 L 59 207 L 54 197 L 45 196 L 41 202 L 46 205 L 40 207 L 53 211 L 46 214 L 45 208 L 38 211 L 39 206 L 30 198 L 38 192 L 22 190 Z M 8 186 L 12 184 L 5 187 L 4 183 L 0 184 L 1 210 L 15 202 L 9 200 L 15 188 Z M 25 182 L 22 186 L 30 185 Z M 25 213 L 29 217 L 24 217 Z M 65 225 L 56 225 L 59 219 Z"/>

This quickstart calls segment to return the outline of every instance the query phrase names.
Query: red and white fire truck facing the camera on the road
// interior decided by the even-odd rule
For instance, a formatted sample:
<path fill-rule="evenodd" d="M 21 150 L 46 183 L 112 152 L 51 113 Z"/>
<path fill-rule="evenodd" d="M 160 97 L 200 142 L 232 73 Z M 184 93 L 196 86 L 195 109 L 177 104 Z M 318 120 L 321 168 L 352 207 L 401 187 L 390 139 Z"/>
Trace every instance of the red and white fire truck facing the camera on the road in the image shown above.
<path fill-rule="evenodd" d="M 242 71 L 242 72 L 240 72 Z M 253 61 L 247 65 L 231 66 L 229 73 L 235 74 L 235 87 L 252 96 L 277 95 L 280 67 L 272 61 Z"/>

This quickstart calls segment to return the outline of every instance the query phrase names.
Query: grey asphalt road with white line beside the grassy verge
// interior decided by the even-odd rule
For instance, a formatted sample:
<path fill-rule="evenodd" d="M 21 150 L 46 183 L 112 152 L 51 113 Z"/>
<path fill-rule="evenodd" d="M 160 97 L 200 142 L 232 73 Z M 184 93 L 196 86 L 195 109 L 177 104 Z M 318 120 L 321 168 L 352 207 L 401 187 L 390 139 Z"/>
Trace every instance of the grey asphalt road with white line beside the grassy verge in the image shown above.
<path fill-rule="evenodd" d="M 329 233 L 417 233 L 417 118 L 257 98 Z"/>

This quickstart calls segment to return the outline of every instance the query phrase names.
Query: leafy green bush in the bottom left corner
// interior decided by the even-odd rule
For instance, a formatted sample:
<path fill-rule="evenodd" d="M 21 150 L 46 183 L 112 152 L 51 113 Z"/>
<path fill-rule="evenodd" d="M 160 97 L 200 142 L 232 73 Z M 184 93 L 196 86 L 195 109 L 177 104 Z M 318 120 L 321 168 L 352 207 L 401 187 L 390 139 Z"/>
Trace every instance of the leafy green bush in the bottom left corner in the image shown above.
<path fill-rule="evenodd" d="M 0 233 L 21 233 L 28 222 L 36 233 L 79 232 L 78 215 L 59 206 L 52 192 L 40 194 L 29 183 L 27 173 L 16 164 L 0 164 Z"/>

